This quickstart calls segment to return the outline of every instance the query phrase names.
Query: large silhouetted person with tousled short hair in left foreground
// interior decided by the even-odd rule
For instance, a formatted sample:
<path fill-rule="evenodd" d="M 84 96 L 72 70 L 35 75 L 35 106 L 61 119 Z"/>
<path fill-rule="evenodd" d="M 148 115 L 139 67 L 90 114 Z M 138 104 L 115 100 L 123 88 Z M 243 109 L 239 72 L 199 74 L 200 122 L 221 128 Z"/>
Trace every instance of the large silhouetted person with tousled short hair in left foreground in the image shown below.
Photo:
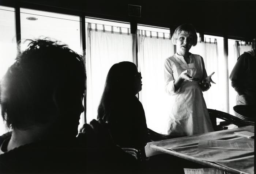
<path fill-rule="evenodd" d="M 0 136 L 0 173 L 136 172 L 135 158 L 113 143 L 103 120 L 78 135 L 85 81 L 80 55 L 60 42 L 31 40 L 0 82 L 11 129 Z"/>

